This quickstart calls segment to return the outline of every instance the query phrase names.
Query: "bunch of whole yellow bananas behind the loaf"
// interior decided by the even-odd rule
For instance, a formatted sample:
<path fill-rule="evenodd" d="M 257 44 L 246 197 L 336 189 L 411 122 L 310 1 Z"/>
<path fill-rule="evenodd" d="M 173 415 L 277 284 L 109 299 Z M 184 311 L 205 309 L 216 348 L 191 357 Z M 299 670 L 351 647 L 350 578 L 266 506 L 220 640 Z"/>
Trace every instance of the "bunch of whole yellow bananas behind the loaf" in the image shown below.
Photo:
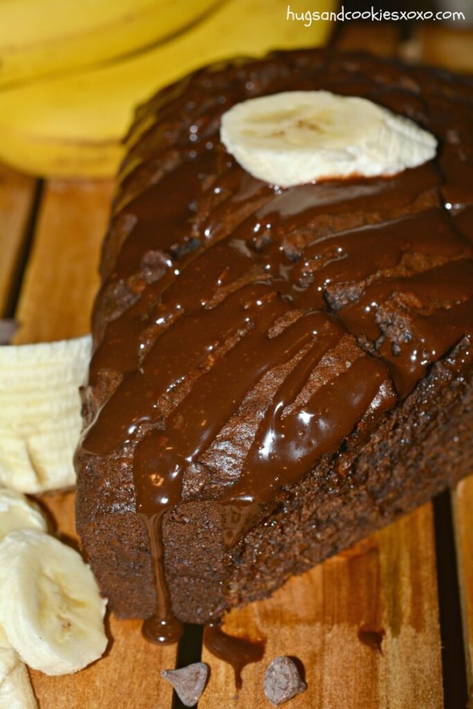
<path fill-rule="evenodd" d="M 291 2 L 291 13 L 304 5 Z M 160 87 L 209 62 L 323 42 L 329 23 L 308 26 L 288 9 L 288 0 L 1 0 L 0 160 L 46 177 L 113 176 L 135 106 Z"/>

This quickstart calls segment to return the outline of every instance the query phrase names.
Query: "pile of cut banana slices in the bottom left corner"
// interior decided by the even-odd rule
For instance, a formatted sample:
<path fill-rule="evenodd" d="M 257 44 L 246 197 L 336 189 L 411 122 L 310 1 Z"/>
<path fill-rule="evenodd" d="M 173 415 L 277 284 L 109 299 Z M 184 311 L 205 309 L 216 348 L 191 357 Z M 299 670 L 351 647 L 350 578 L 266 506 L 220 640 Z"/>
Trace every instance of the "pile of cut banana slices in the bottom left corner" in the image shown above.
<path fill-rule="evenodd" d="M 106 601 L 82 557 L 40 510 L 0 488 L 0 709 L 36 707 L 25 664 L 70 674 L 106 649 Z"/>

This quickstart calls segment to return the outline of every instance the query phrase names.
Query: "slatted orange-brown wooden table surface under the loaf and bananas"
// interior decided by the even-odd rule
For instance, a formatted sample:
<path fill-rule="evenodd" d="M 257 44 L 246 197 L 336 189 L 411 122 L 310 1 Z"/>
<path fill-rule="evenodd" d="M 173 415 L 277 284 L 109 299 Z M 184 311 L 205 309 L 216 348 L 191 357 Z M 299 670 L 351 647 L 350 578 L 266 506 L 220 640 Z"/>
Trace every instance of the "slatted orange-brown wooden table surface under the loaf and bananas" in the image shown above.
<path fill-rule="evenodd" d="M 343 48 L 473 68 L 471 33 L 452 38 L 452 30 L 423 26 L 400 44 L 394 24 L 352 23 L 336 36 Z M 0 167 L 0 314 L 21 323 L 16 343 L 89 331 L 111 191 L 106 182 L 42 182 Z M 70 537 L 73 497 L 43 498 Z M 160 669 L 200 658 L 211 679 L 199 709 L 267 708 L 265 666 L 289 654 L 304 664 L 308 683 L 291 709 L 464 709 L 468 693 L 473 709 L 472 514 L 470 477 L 267 601 L 230 613 L 228 631 L 267 638 L 265 661 L 243 671 L 238 698 L 230 667 L 202 648 L 199 628 L 188 627 L 178 647 L 160 648 L 141 639 L 138 621 L 112 616 L 99 662 L 74 676 L 31 672 L 40 708 L 177 709 Z M 384 630 L 382 652 L 360 642 L 363 625 Z"/>

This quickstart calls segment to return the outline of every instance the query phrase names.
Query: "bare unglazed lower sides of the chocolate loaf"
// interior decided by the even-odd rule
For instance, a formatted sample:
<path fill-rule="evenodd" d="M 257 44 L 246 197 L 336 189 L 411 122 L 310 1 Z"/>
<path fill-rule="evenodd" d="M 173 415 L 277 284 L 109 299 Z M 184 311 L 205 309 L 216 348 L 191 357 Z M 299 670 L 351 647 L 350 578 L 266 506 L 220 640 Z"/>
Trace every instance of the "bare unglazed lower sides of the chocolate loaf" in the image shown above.
<path fill-rule="evenodd" d="M 461 359 L 469 363 L 459 373 Z M 425 503 L 470 472 L 472 428 L 473 362 L 464 338 L 382 416 L 367 440 L 354 442 L 352 433 L 343 450 L 284 489 L 274 509 L 230 551 L 218 501 L 187 501 L 169 510 L 163 540 L 174 613 L 187 623 L 206 623 L 234 605 L 265 598 L 293 574 Z M 94 516 L 91 498 L 94 475 L 83 473 L 77 530 L 101 590 L 118 617 L 148 618 L 155 588 L 145 525 L 133 511 Z"/>

